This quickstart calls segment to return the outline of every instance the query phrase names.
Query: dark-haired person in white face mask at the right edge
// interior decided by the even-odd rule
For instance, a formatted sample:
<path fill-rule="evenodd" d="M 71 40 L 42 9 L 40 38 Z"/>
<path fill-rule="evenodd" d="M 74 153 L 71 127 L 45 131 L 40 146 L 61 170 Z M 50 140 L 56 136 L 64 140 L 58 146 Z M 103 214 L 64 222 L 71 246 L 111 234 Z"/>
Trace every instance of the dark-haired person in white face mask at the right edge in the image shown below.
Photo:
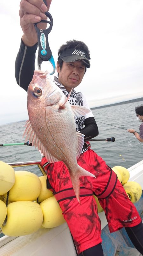
<path fill-rule="evenodd" d="M 135 112 L 137 115 L 137 120 L 142 122 L 140 125 L 140 133 L 133 129 L 128 129 L 128 132 L 133 133 L 140 142 L 143 142 L 143 105 L 135 107 Z"/>

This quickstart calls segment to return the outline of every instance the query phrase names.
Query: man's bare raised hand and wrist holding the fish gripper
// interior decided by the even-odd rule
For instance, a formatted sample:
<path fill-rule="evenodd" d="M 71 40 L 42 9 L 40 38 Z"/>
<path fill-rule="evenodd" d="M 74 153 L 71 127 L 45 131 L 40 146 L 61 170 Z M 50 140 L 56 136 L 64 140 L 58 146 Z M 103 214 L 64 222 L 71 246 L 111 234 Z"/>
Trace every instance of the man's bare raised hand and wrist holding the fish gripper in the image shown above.
<path fill-rule="evenodd" d="M 22 40 L 27 46 L 33 46 L 38 41 L 34 23 L 47 19 L 44 12 L 49 11 L 51 0 L 46 0 L 46 4 L 47 6 L 43 0 L 21 0 L 20 2 L 20 25 L 24 33 Z"/>

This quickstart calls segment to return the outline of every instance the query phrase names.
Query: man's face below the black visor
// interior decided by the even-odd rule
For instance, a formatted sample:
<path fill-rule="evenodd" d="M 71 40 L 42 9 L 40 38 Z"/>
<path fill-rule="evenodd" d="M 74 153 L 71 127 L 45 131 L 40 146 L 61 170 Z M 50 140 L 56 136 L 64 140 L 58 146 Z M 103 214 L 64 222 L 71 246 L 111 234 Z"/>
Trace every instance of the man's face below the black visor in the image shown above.
<path fill-rule="evenodd" d="M 63 62 L 60 68 L 57 62 L 58 81 L 65 86 L 67 91 L 77 87 L 85 74 L 85 64 L 83 61 Z"/>

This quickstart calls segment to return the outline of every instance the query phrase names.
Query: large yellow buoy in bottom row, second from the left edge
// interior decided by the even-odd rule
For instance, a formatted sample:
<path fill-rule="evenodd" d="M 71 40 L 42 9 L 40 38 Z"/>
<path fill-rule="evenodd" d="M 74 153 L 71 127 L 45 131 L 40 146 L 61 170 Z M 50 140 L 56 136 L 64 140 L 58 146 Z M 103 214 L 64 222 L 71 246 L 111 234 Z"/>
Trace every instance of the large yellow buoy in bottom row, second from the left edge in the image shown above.
<path fill-rule="evenodd" d="M 42 221 L 43 213 L 36 202 L 13 202 L 7 207 L 7 221 L 2 232 L 12 237 L 29 235 L 41 227 Z"/>

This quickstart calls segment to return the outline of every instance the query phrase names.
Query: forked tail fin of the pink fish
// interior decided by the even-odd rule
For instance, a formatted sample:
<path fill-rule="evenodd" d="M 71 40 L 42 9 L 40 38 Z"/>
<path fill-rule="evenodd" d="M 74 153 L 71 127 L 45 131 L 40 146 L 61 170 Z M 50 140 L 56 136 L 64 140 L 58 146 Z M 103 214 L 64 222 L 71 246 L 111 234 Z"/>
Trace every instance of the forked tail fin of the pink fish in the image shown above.
<path fill-rule="evenodd" d="M 75 195 L 76 195 L 76 198 L 80 204 L 80 180 L 79 180 L 79 177 L 82 177 L 82 176 L 91 176 L 91 177 L 95 177 L 94 174 L 86 171 L 84 168 L 80 167 L 78 165 L 78 169 L 77 169 L 77 172 L 75 175 L 71 175 L 71 182 L 72 182 L 72 186 L 73 186 L 73 190 L 75 192 Z"/>

